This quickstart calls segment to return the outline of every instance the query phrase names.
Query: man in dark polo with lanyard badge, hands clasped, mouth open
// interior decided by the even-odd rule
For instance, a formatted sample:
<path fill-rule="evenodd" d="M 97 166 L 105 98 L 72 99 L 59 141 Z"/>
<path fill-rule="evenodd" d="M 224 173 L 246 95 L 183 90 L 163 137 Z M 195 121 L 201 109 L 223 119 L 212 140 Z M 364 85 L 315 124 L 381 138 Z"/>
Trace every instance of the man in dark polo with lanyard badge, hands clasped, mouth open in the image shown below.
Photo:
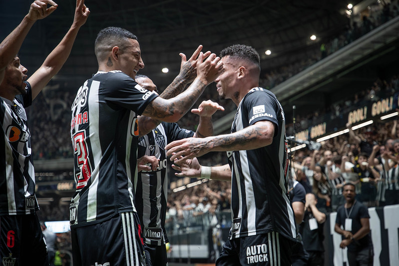
<path fill-rule="evenodd" d="M 340 247 L 348 248 L 349 266 L 373 265 L 369 211 L 365 205 L 355 199 L 355 196 L 355 185 L 345 184 L 346 203 L 337 211 L 335 232 L 342 235 Z"/>

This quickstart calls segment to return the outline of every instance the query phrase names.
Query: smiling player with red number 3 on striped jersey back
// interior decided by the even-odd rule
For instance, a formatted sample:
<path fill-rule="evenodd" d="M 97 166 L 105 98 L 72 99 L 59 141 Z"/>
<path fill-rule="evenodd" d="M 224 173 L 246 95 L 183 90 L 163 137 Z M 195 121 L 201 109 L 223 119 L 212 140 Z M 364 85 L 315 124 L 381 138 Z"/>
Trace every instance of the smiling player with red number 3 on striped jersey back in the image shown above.
<path fill-rule="evenodd" d="M 134 77 L 144 63 L 133 33 L 104 28 L 94 48 L 98 72 L 78 89 L 71 107 L 76 182 L 70 204 L 73 265 L 145 265 L 134 184 L 138 137 L 147 128 L 140 127 L 137 115 L 176 122 L 219 75 L 223 63 L 214 53 L 201 52 L 202 45 L 187 61 L 181 54 L 183 69 L 196 67 L 197 76 L 186 91 L 164 99 L 185 76 L 159 97 L 138 85 Z"/>

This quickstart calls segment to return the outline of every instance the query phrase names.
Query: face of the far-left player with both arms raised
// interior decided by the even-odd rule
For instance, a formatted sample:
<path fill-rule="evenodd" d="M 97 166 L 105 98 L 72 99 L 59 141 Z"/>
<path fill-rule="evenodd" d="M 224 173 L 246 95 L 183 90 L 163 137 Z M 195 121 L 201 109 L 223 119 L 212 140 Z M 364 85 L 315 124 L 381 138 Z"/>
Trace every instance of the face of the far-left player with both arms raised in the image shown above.
<path fill-rule="evenodd" d="M 20 64 L 17 56 L 5 68 L 4 79 L 1 86 L 6 86 L 15 95 L 25 93 L 25 83 L 27 69 Z"/>

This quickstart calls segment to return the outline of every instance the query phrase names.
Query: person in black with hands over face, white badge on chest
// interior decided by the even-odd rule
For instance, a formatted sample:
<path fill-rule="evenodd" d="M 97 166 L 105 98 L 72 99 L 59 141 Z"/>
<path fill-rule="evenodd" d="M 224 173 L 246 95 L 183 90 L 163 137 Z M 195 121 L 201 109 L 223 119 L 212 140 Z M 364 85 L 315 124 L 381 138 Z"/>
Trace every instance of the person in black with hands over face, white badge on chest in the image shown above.
<path fill-rule="evenodd" d="M 324 222 L 326 214 L 317 207 L 315 194 L 306 194 L 304 221 L 300 224 L 299 233 L 302 235 L 304 248 L 309 254 L 308 266 L 324 265 Z"/>

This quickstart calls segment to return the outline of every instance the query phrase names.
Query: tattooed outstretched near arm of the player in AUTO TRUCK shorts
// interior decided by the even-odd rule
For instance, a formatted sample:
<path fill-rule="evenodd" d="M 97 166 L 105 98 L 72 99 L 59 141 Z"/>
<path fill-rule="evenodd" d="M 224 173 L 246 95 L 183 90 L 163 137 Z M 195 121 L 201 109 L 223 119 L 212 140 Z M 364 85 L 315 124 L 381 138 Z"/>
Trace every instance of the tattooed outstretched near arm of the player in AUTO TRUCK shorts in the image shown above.
<path fill-rule="evenodd" d="M 210 151 L 253 150 L 268 146 L 273 141 L 275 124 L 270 121 L 258 121 L 237 132 L 207 137 L 203 139 L 187 138 L 169 143 L 165 149 L 167 156 L 173 161 L 180 156 L 185 159 L 202 156 Z M 175 163 L 179 164 L 182 159 Z"/>

